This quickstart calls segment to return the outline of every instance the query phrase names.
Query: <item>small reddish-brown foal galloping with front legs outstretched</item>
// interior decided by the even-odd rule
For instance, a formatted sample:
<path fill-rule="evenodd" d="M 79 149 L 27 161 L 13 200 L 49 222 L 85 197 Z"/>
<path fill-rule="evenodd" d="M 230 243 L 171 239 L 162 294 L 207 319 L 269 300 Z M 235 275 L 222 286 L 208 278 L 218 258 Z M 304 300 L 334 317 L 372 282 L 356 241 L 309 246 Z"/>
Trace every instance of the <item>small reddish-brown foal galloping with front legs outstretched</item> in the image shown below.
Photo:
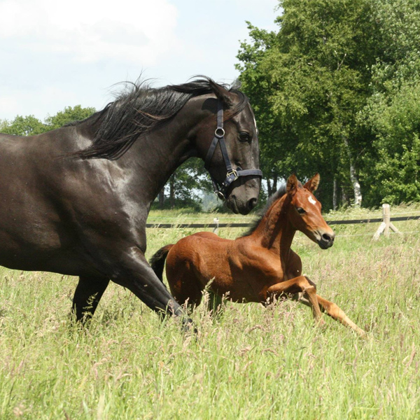
<path fill-rule="evenodd" d="M 307 183 L 289 177 L 286 189 L 267 203 L 264 216 L 243 237 L 222 239 L 211 232 L 199 232 L 160 248 L 151 258 L 155 274 L 166 274 L 172 295 L 179 304 L 200 304 L 208 287 L 216 296 L 234 302 L 269 302 L 274 296 L 293 295 L 311 307 L 317 324 L 321 310 L 364 336 L 335 303 L 316 294 L 316 286 L 302 275 L 302 261 L 290 248 L 300 230 L 321 248 L 334 244 L 335 233 L 321 216 L 321 204 L 313 193 L 319 175 Z M 210 284 L 209 284 L 210 283 Z"/>

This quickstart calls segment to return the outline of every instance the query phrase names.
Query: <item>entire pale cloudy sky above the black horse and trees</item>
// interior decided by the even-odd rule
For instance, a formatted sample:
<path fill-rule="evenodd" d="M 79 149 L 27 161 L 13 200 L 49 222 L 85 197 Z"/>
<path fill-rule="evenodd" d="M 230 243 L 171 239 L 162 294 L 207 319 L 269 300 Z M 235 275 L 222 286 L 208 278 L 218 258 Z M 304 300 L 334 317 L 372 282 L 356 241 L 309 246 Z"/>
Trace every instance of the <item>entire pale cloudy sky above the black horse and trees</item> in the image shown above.
<path fill-rule="evenodd" d="M 113 85 L 204 74 L 232 82 L 246 20 L 275 30 L 277 0 L 0 0 L 0 120 L 102 109 Z"/>

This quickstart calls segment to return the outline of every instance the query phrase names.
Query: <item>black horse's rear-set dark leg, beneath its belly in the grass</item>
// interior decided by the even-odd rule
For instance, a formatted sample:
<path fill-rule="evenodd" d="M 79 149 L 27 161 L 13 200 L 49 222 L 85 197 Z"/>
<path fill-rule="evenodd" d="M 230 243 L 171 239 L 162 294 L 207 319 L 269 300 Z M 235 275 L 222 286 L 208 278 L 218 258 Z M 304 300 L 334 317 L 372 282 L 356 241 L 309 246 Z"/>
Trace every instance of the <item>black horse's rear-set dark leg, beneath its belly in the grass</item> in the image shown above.
<path fill-rule="evenodd" d="M 108 284 L 109 279 L 102 276 L 79 277 L 73 297 L 73 312 L 76 315 L 76 321 L 85 323 L 92 318 Z"/>

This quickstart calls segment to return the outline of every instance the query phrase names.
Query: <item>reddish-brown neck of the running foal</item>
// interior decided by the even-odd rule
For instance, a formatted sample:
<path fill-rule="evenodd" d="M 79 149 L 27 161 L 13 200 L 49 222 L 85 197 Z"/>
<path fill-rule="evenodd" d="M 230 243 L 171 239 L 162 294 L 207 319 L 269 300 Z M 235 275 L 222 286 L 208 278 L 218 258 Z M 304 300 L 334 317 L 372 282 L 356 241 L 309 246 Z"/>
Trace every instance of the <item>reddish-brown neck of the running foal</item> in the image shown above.
<path fill-rule="evenodd" d="M 287 257 L 296 232 L 288 221 L 288 205 L 286 196 L 274 203 L 255 230 L 262 246 L 281 258 Z"/>

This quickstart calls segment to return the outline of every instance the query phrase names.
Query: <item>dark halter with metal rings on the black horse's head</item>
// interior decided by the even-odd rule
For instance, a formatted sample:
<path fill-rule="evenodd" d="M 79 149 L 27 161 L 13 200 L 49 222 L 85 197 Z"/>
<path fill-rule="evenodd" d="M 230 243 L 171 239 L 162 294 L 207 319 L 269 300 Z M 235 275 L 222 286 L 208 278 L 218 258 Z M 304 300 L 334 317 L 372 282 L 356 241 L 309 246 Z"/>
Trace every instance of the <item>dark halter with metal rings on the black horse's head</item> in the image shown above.
<path fill-rule="evenodd" d="M 221 186 L 218 186 L 218 182 L 214 179 L 214 176 L 210 174 L 210 164 L 211 158 L 213 158 L 214 151 L 216 150 L 217 145 L 221 146 L 221 152 L 223 156 L 223 160 L 225 160 L 226 165 L 226 179 L 223 181 Z M 237 180 L 239 176 L 260 176 L 262 177 L 262 172 L 260 169 L 242 169 L 241 167 L 237 167 L 237 169 L 232 168 L 232 163 L 230 162 L 228 149 L 226 148 L 225 143 L 225 130 L 223 130 L 223 103 L 218 101 L 217 105 L 217 128 L 214 132 L 214 138 L 211 142 L 209 147 L 209 151 L 207 152 L 206 160 L 204 161 L 204 167 L 209 171 L 211 182 L 213 183 L 214 193 L 217 195 L 218 198 L 221 200 L 226 200 L 225 194 L 228 190 L 230 184 Z"/>

